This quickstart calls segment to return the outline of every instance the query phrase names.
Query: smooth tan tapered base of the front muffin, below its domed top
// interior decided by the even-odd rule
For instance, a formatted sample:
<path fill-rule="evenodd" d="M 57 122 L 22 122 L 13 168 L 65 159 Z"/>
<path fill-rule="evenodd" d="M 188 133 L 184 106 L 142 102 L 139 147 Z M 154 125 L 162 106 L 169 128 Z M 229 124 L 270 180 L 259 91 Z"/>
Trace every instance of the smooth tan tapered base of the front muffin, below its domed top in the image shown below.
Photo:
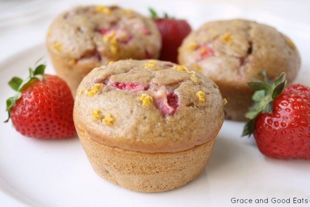
<path fill-rule="evenodd" d="M 143 153 L 105 146 L 86 133 L 78 136 L 93 170 L 102 178 L 140 192 L 169 191 L 185 185 L 203 170 L 215 142 L 175 153 Z"/>

